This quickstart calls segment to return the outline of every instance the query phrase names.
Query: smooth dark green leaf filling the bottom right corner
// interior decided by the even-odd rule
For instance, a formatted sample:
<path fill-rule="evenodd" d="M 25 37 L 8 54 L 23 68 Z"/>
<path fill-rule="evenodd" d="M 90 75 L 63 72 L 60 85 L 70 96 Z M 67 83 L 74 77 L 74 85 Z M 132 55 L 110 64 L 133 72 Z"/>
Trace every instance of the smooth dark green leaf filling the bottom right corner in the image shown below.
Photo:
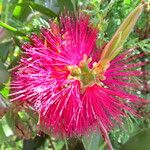
<path fill-rule="evenodd" d="M 149 150 L 150 129 L 145 129 L 125 143 L 121 150 Z"/>

